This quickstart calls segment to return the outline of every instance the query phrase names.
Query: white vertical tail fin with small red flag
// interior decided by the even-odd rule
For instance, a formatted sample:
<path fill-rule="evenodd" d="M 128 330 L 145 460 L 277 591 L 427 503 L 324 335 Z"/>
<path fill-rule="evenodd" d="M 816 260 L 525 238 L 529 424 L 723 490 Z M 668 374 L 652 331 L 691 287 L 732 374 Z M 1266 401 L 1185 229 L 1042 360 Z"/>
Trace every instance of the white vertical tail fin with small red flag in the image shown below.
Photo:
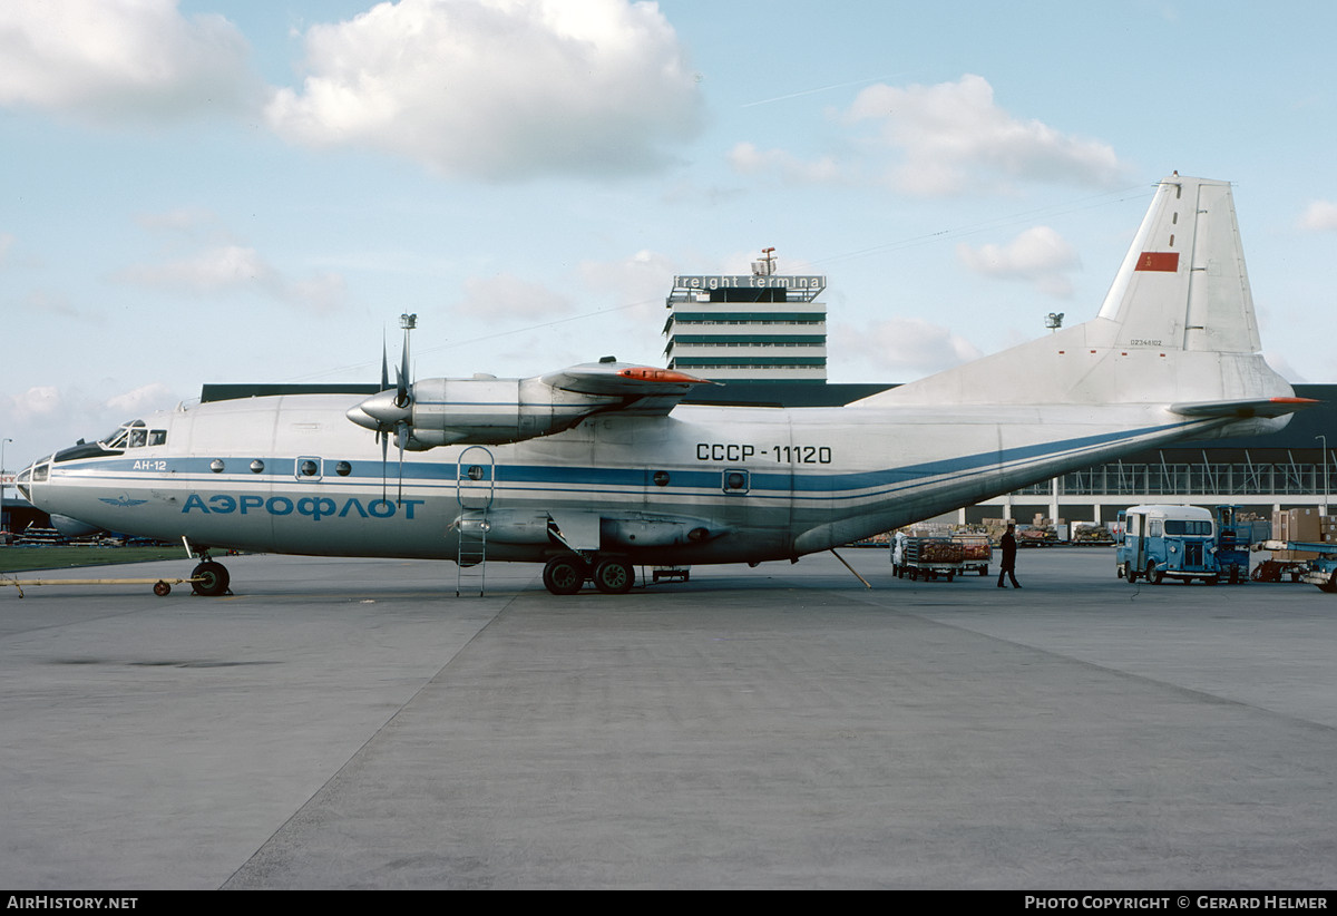
<path fill-rule="evenodd" d="M 1095 318 L 858 401 L 1206 404 L 1294 394 L 1263 362 L 1230 185 L 1174 174 Z"/>

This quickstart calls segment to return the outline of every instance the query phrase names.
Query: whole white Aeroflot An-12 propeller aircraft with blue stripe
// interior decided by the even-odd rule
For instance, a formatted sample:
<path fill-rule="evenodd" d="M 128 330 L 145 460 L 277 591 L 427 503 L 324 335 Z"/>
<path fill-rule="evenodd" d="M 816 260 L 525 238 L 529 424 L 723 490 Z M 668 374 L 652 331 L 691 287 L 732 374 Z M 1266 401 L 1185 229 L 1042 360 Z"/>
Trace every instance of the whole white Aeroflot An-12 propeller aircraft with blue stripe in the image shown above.
<path fill-rule="evenodd" d="M 532 378 L 178 407 L 24 469 L 37 507 L 209 551 L 544 563 L 554 594 L 636 564 L 796 560 L 1178 439 L 1310 404 L 1263 361 L 1230 186 L 1162 181 L 1090 321 L 842 408 L 681 404 L 615 361 Z M 394 441 L 398 460 L 388 459 Z"/>

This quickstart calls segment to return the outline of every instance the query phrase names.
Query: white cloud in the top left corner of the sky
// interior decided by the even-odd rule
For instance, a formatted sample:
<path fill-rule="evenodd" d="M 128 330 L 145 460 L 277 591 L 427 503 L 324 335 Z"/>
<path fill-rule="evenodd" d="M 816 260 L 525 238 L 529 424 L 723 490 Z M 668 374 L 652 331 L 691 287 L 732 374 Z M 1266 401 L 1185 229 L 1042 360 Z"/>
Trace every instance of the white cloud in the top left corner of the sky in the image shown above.
<path fill-rule="evenodd" d="M 241 32 L 176 0 L 5 0 L 0 106 L 96 123 L 172 120 L 261 98 Z"/>

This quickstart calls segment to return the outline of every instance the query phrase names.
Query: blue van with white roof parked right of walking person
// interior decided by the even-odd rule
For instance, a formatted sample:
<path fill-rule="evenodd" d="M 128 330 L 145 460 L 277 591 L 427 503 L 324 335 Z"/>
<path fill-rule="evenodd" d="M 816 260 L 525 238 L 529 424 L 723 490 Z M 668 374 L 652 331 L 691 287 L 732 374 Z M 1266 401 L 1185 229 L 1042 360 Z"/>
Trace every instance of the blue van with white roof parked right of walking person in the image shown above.
<path fill-rule="evenodd" d="M 1167 576 L 1185 583 L 1221 580 L 1211 512 L 1194 505 L 1134 505 L 1119 512 L 1116 574 L 1159 584 Z"/>

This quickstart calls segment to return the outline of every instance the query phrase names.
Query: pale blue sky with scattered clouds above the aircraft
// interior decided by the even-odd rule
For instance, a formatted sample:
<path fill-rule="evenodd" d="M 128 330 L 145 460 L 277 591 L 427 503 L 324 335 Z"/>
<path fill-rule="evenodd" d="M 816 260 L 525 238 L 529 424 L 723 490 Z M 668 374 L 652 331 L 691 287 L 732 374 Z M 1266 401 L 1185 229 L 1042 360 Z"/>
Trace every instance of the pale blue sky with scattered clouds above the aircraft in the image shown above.
<path fill-rule="evenodd" d="M 12 468 L 203 382 L 662 364 L 678 273 L 824 273 L 832 381 L 1094 316 L 1171 170 L 1337 382 L 1337 4 L 7 0 Z"/>

